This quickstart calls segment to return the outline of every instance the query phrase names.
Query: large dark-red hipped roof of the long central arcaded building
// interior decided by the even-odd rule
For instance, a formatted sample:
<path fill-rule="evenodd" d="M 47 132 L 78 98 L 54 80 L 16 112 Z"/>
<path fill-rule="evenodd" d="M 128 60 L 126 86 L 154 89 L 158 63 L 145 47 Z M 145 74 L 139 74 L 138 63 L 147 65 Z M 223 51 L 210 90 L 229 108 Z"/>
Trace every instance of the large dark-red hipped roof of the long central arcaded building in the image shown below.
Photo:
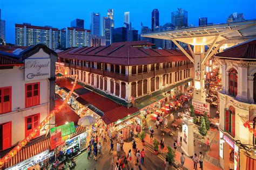
<path fill-rule="evenodd" d="M 133 47 L 129 43 L 131 44 L 131 42 L 122 42 L 110 46 L 84 47 L 82 50 L 74 51 L 68 49 L 58 53 L 58 56 L 125 66 L 188 60 L 186 55 L 177 50 Z"/>

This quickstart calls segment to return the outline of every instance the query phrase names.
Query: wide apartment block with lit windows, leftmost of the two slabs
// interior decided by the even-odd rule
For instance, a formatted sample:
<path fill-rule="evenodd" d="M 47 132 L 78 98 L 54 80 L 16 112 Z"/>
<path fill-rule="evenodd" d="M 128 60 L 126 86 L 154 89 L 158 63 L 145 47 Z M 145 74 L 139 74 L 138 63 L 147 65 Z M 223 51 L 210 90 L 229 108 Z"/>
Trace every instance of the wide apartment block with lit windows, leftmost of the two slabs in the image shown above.
<path fill-rule="evenodd" d="M 58 47 L 58 29 L 31 24 L 15 24 L 15 45 L 31 46 L 44 44 L 55 50 Z"/>

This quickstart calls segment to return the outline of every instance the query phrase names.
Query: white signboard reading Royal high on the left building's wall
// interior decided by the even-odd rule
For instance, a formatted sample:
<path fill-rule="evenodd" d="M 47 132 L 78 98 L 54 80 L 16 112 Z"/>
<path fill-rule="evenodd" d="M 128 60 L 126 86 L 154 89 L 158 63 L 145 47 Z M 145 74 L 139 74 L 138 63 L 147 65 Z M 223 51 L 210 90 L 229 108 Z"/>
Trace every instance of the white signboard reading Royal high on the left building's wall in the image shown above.
<path fill-rule="evenodd" d="M 51 59 L 25 59 L 25 81 L 51 77 Z"/>

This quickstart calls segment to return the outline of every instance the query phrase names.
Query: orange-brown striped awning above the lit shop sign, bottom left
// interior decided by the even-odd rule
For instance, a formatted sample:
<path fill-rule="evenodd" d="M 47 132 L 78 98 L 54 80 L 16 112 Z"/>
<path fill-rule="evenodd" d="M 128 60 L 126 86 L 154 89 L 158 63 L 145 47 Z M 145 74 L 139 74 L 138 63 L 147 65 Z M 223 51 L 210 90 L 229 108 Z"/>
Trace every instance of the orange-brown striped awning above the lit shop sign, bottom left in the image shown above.
<path fill-rule="evenodd" d="M 36 140 L 36 139 L 34 139 Z M 29 159 L 41 152 L 44 152 L 46 150 L 48 150 L 51 146 L 51 140 L 50 138 L 39 141 L 33 145 L 28 145 L 22 148 L 21 151 L 17 152 L 17 154 L 14 157 L 11 157 L 10 161 L 8 161 L 5 165 L 4 165 L 4 169 L 14 166 L 16 164 L 18 164 L 19 162 Z"/>

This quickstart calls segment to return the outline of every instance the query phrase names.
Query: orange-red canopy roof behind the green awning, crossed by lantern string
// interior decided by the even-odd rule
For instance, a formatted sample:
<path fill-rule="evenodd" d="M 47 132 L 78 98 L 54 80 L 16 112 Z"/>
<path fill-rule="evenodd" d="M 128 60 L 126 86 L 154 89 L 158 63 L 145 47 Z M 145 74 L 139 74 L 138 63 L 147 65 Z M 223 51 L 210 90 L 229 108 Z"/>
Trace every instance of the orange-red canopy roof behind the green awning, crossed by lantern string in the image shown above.
<path fill-rule="evenodd" d="M 55 101 L 56 108 L 62 104 L 63 101 L 58 98 Z M 80 117 L 73 111 L 70 106 L 67 104 L 66 107 L 63 107 L 56 115 L 55 115 L 55 123 L 56 126 L 60 126 L 65 124 L 65 122 L 74 122 L 77 125 L 78 119 Z"/>

